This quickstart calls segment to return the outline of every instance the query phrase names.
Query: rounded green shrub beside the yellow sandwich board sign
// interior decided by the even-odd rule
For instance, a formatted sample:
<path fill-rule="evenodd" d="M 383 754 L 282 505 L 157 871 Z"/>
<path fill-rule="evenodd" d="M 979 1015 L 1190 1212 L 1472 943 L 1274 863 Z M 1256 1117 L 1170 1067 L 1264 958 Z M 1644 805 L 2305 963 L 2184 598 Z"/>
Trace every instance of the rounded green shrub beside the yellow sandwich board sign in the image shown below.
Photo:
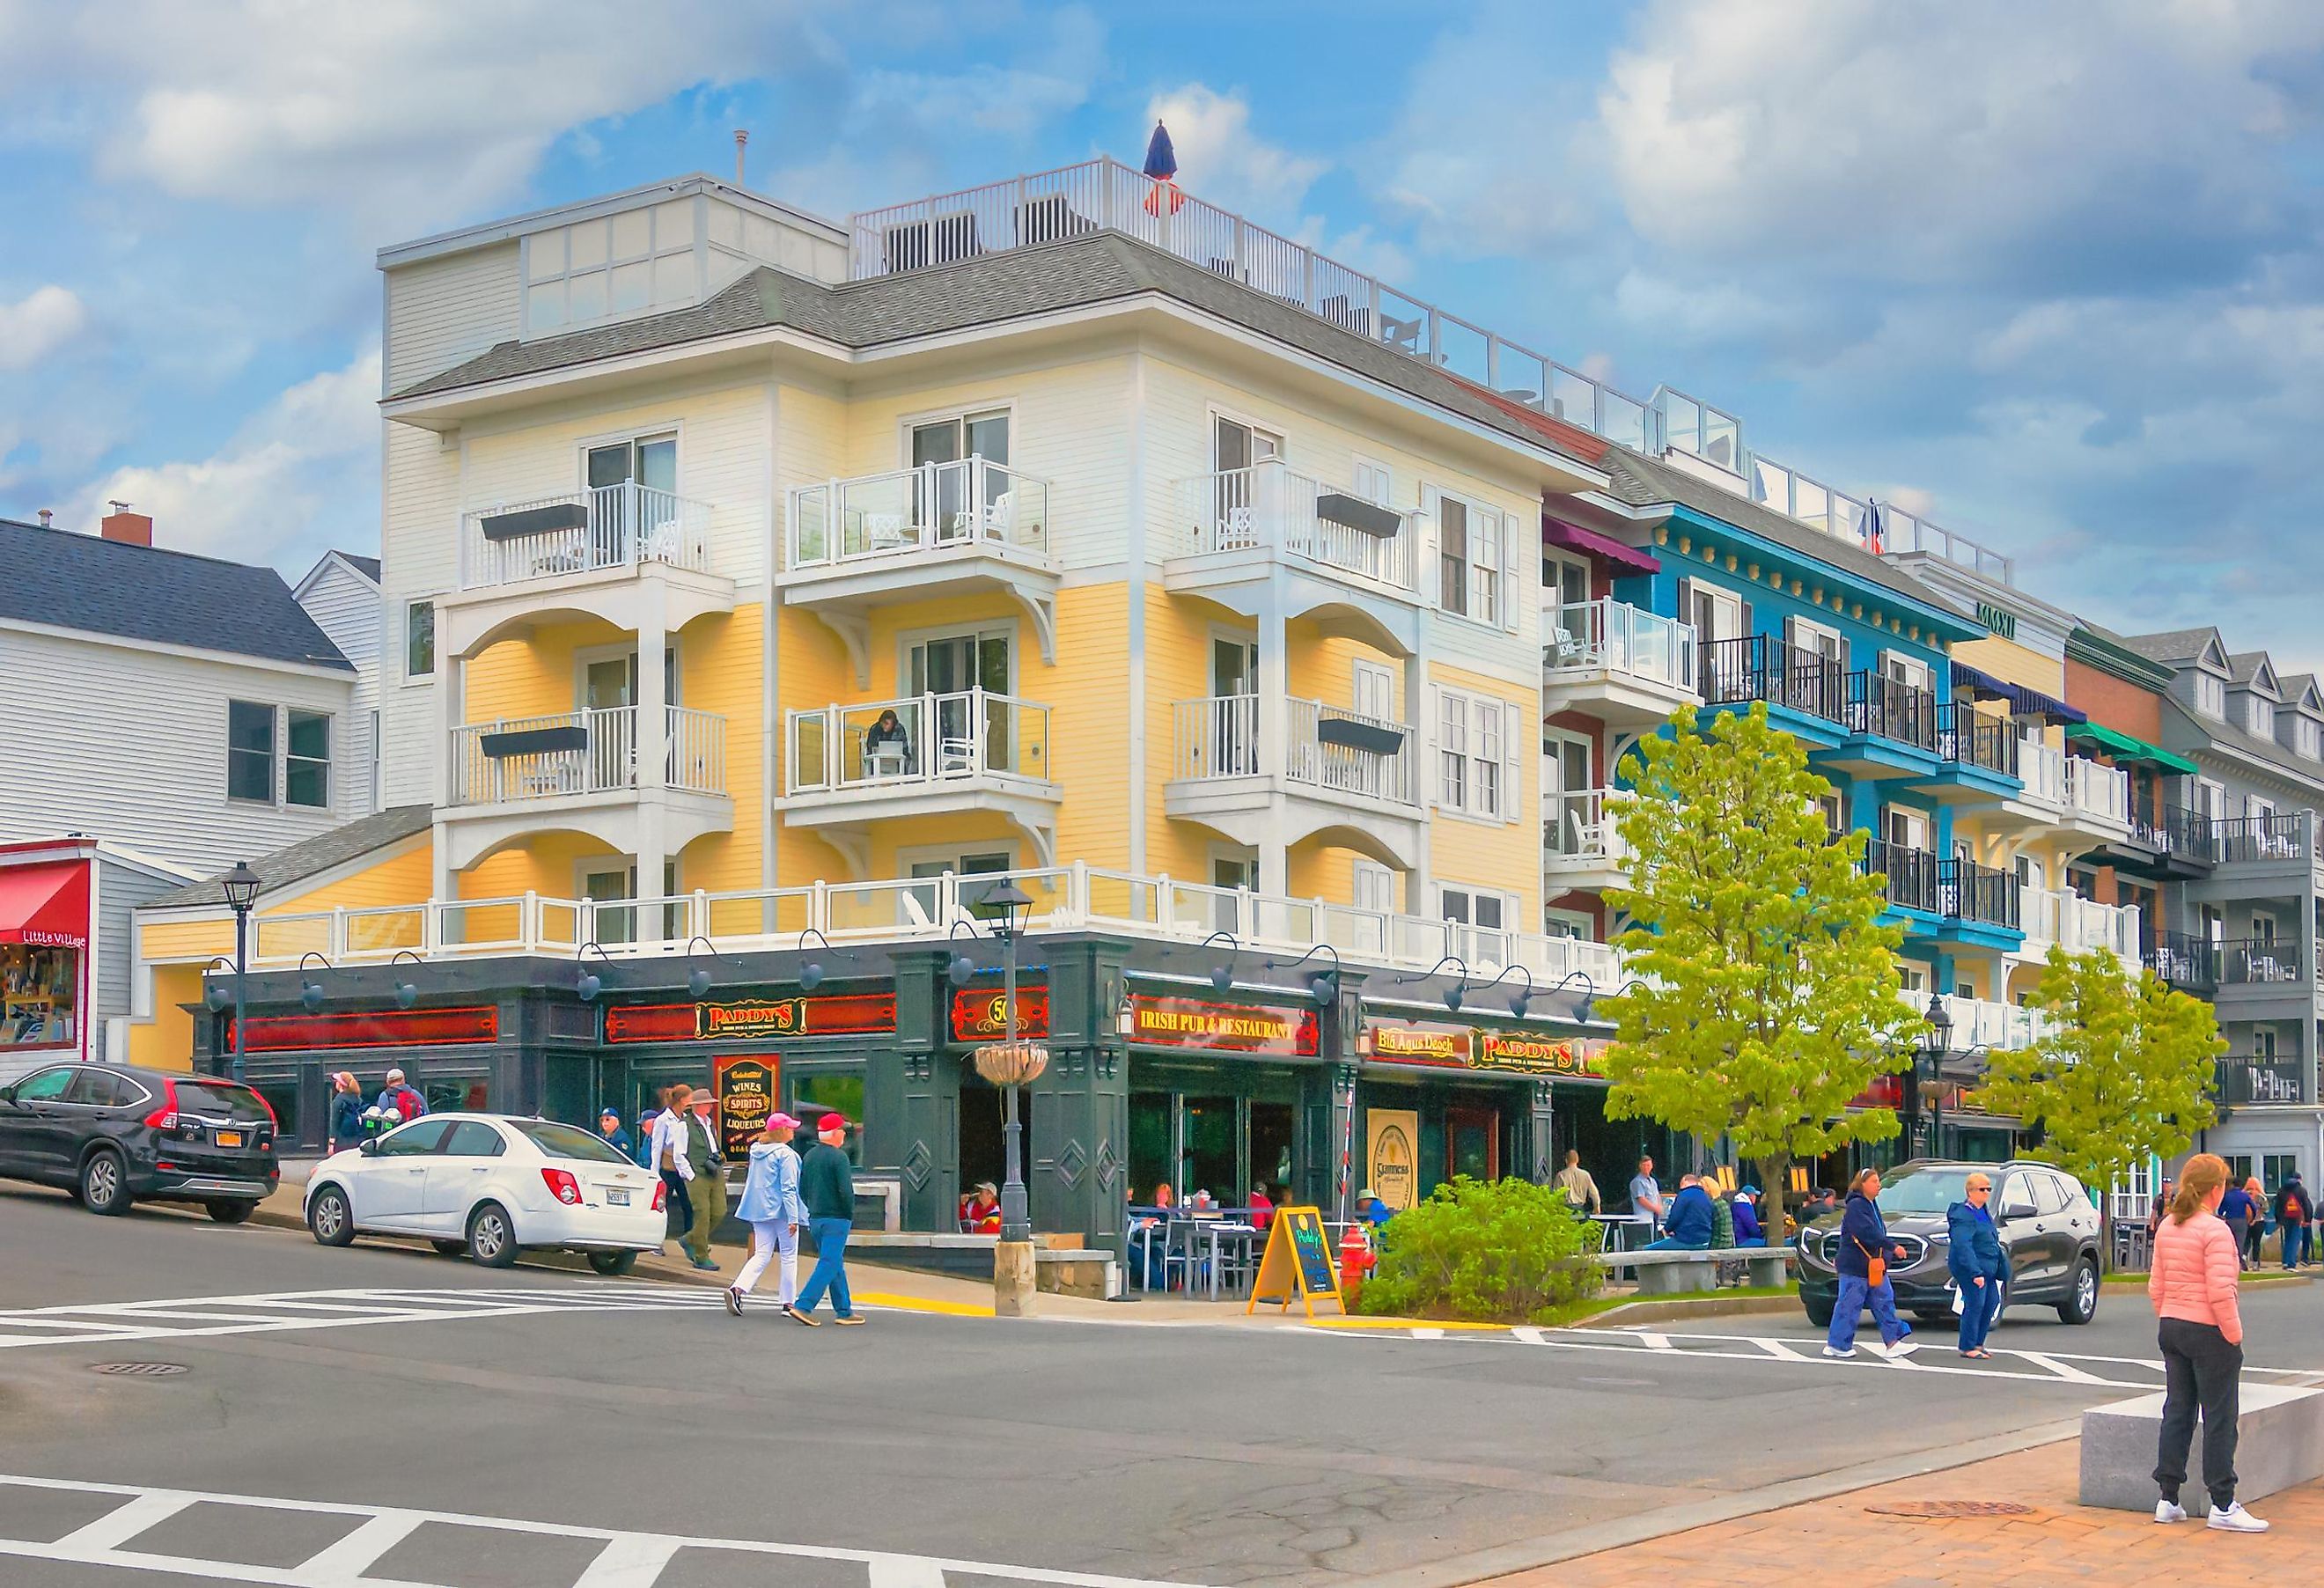
<path fill-rule="evenodd" d="M 1601 1228 L 1566 1209 L 1555 1186 L 1462 1174 L 1380 1225 L 1360 1304 L 1369 1314 L 1538 1321 L 1604 1288 L 1606 1272 L 1590 1262 L 1599 1242 Z"/>

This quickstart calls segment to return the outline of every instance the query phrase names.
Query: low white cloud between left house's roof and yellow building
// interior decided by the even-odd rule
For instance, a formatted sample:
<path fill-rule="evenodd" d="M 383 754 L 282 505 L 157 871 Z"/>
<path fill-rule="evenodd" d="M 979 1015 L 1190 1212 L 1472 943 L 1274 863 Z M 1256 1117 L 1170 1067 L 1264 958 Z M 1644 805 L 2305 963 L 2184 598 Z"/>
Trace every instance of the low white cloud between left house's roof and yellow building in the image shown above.
<path fill-rule="evenodd" d="M 67 523 L 109 500 L 153 518 L 153 542 L 297 567 L 328 546 L 379 544 L 379 353 L 274 398 L 207 458 L 116 467 L 74 495 Z"/>

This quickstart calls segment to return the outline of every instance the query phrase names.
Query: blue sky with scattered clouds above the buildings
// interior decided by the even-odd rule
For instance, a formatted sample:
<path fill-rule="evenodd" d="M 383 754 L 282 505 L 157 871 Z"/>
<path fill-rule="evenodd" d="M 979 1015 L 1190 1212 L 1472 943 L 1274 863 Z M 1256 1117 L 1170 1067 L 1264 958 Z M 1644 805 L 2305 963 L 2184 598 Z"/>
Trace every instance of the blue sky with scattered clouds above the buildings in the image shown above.
<path fill-rule="evenodd" d="M 379 532 L 372 251 L 686 170 L 1090 153 L 1745 421 L 2119 628 L 2324 665 L 2324 7 L 0 0 L 0 514 Z"/>

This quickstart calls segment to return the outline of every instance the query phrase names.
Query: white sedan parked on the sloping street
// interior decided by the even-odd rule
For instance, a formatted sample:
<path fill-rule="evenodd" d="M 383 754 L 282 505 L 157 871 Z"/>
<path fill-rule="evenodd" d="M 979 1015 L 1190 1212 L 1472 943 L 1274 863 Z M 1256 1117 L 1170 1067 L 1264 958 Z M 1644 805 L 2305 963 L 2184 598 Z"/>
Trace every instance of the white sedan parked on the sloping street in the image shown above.
<path fill-rule="evenodd" d="M 332 1153 L 307 1181 L 307 1228 L 325 1246 L 423 1235 L 507 1267 L 528 1246 L 588 1253 L 627 1274 L 667 1230 L 662 1179 L 600 1137 L 546 1118 L 430 1114 Z"/>

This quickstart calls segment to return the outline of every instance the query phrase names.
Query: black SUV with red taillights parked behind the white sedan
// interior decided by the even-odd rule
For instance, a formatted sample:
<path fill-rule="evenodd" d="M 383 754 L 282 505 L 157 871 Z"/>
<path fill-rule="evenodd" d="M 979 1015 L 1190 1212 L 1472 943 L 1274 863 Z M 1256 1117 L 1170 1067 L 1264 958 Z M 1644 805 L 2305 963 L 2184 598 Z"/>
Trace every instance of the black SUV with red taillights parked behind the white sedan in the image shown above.
<path fill-rule="evenodd" d="M 235 1081 L 49 1065 L 0 1086 L 0 1179 L 63 1186 L 91 1214 L 144 1197 L 242 1223 L 281 1183 L 274 1109 Z"/>

